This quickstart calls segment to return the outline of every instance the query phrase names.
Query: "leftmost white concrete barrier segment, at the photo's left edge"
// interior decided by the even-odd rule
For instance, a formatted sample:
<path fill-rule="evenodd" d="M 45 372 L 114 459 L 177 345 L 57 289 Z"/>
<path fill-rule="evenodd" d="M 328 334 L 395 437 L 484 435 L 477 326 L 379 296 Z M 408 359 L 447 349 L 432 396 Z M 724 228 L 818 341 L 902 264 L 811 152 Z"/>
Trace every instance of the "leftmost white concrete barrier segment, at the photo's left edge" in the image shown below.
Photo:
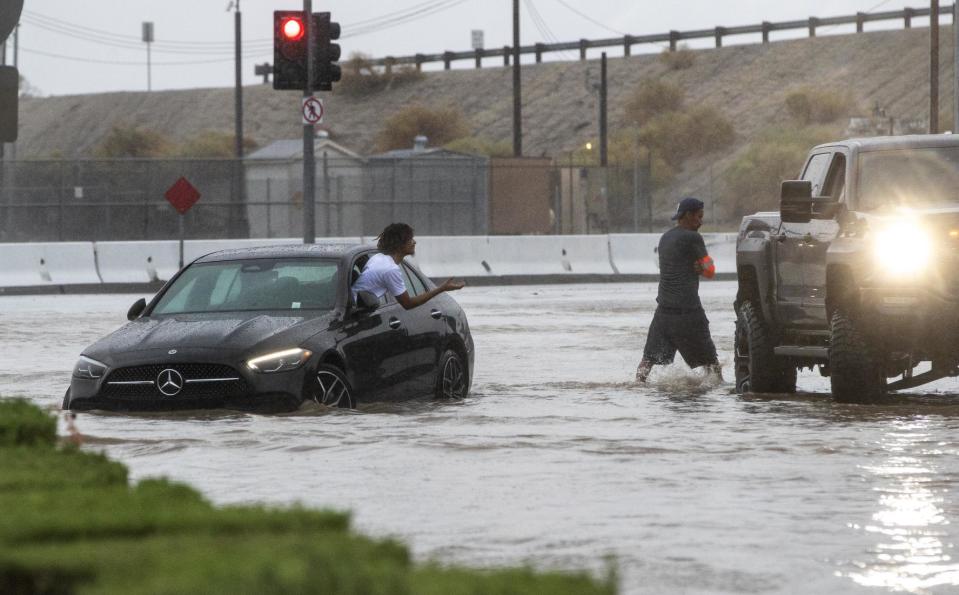
<path fill-rule="evenodd" d="M 0 287 L 100 283 L 92 242 L 0 244 Z"/>

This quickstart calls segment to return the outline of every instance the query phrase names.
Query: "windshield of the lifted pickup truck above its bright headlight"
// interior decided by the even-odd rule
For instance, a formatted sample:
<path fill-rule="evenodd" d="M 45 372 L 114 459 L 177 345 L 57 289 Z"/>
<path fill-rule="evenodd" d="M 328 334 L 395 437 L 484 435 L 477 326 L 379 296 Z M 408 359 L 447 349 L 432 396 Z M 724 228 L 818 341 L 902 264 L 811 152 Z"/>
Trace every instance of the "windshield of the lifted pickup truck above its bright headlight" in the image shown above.
<path fill-rule="evenodd" d="M 872 151 L 860 156 L 859 209 L 933 206 L 959 198 L 959 147 Z"/>

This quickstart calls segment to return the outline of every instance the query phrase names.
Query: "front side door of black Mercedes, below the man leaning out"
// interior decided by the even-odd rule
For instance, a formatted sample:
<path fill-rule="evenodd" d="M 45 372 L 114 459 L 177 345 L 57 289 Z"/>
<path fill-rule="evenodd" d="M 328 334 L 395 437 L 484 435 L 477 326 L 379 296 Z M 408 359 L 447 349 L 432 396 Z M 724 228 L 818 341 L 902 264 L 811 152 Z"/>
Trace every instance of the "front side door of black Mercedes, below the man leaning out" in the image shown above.
<path fill-rule="evenodd" d="M 352 266 L 350 287 L 359 276 L 369 255 L 358 256 Z M 361 399 L 401 398 L 407 388 L 407 352 L 409 336 L 403 320 L 403 307 L 390 296 L 380 299 L 373 312 L 359 312 L 352 305 L 338 336 L 338 345 L 346 356 L 347 373 Z"/>

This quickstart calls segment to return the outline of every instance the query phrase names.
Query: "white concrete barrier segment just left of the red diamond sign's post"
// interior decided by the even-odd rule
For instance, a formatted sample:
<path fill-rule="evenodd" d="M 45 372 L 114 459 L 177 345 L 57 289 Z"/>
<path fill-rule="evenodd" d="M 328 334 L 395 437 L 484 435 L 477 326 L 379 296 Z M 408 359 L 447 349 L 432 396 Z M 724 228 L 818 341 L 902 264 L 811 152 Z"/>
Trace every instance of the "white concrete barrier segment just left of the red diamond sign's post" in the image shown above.
<path fill-rule="evenodd" d="M 179 270 L 179 242 L 96 242 L 97 267 L 104 283 L 156 283 Z"/>

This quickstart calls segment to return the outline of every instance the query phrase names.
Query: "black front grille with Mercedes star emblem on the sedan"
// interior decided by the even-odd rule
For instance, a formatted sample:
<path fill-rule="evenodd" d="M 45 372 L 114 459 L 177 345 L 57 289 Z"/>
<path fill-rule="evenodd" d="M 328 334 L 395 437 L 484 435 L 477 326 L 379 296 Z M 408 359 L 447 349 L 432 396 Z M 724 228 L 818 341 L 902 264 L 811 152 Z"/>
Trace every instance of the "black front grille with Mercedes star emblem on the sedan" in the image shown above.
<path fill-rule="evenodd" d="M 173 370 L 174 384 L 161 373 Z M 160 390 L 158 380 L 166 392 Z M 175 390 L 175 385 L 179 390 Z M 110 372 L 100 395 L 113 399 L 228 399 L 248 392 L 243 377 L 230 366 L 222 364 L 150 364 L 119 368 Z M 172 394 L 171 394 L 172 393 Z"/>

